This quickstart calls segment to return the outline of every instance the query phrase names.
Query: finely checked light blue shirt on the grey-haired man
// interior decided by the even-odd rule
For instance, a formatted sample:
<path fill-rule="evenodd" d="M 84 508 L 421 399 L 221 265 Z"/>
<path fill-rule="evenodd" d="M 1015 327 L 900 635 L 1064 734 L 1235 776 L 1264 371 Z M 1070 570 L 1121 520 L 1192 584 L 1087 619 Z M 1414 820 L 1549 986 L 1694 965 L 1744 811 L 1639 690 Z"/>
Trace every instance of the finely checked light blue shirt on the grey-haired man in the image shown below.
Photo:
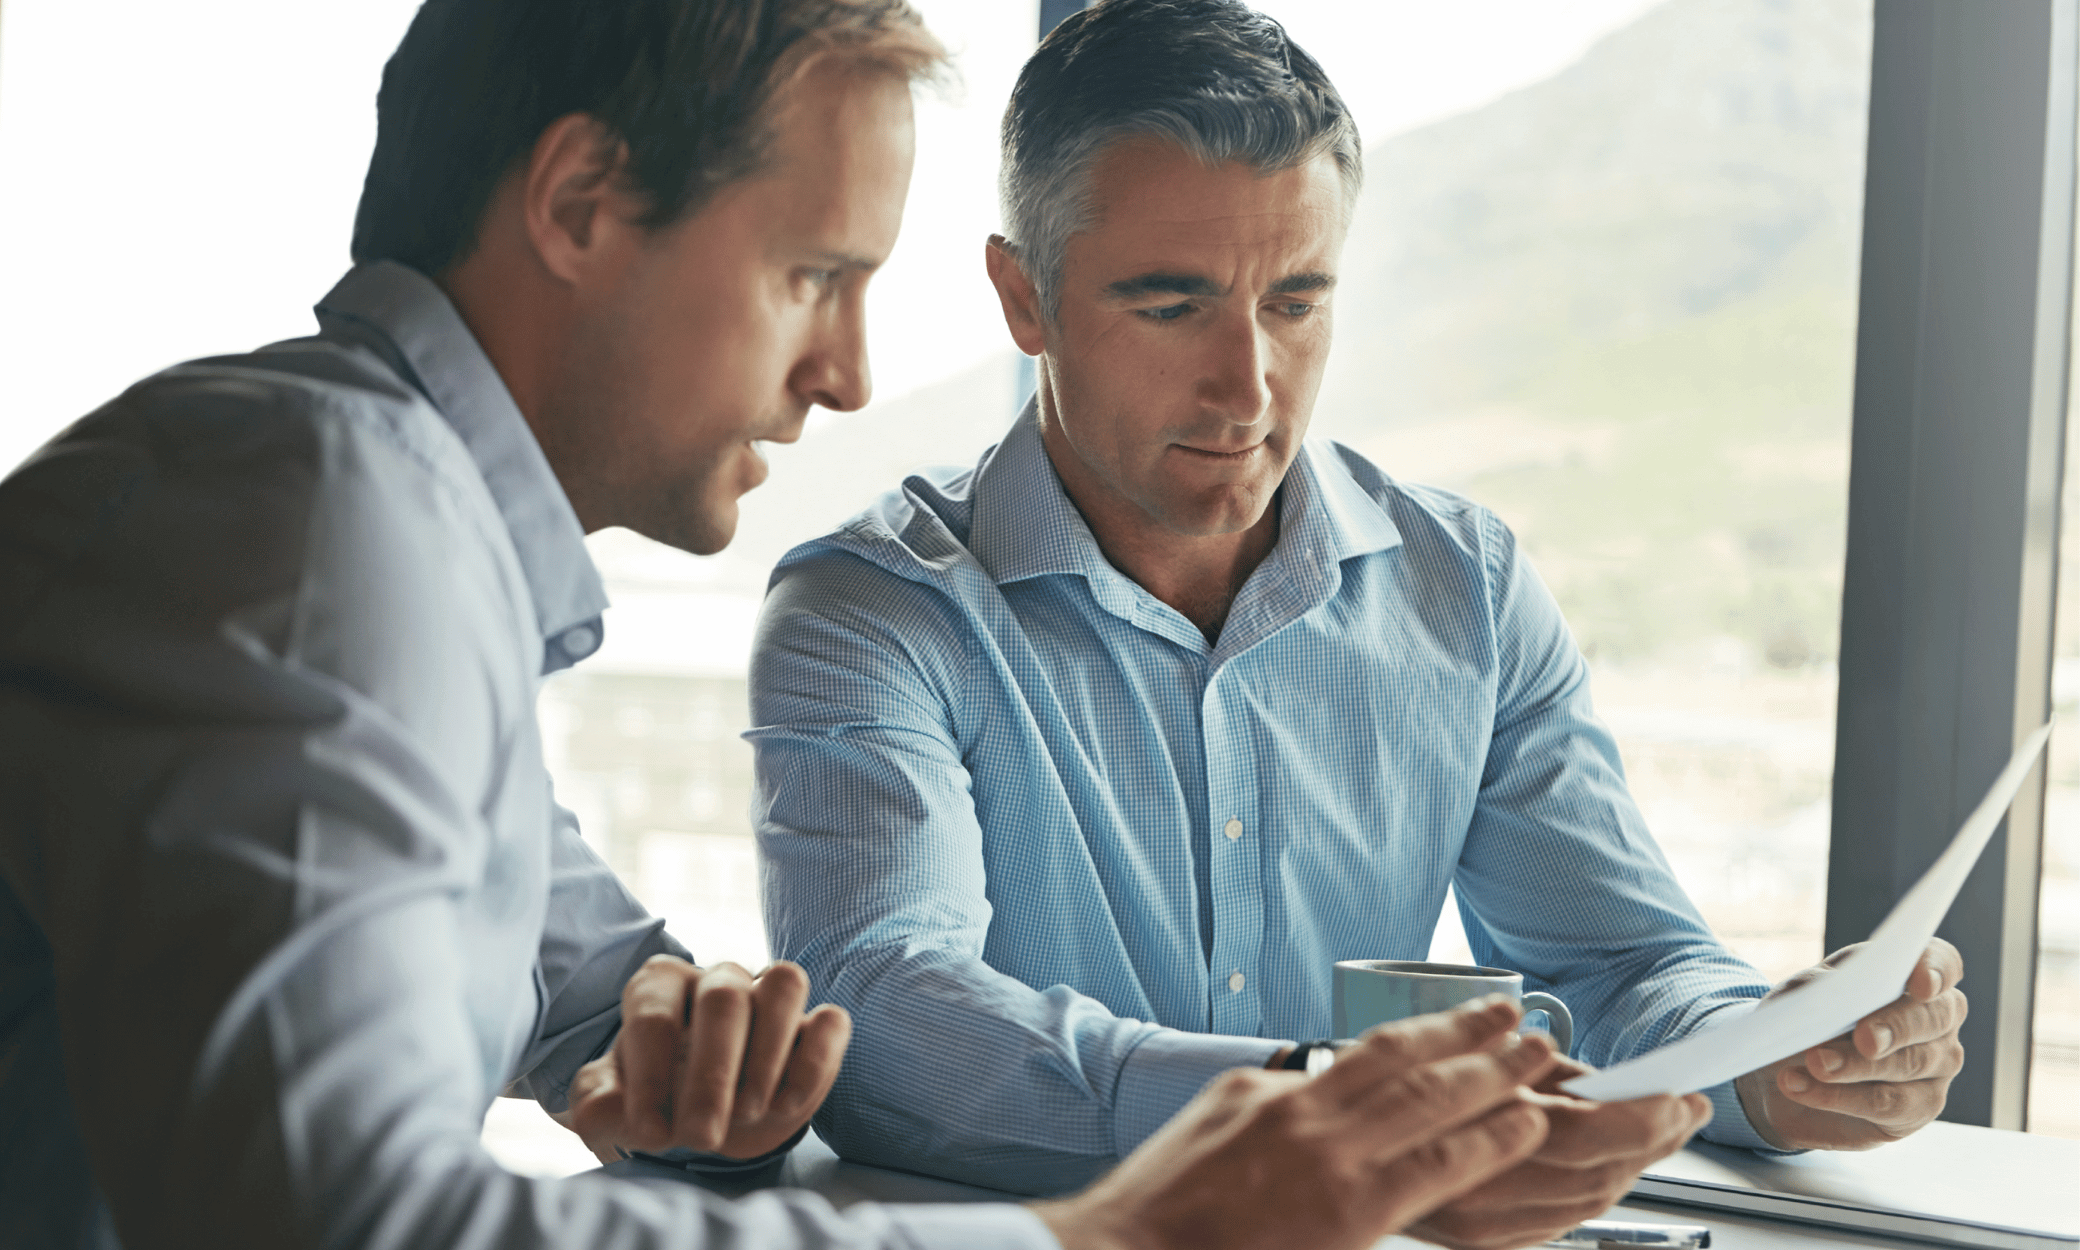
<path fill-rule="evenodd" d="M 1483 963 L 1608 1065 L 1749 1011 L 1508 528 L 1310 443 L 1219 643 L 1098 551 L 1034 408 L 774 572 L 765 923 L 857 1034 L 851 1158 L 1088 1181 L 1211 1075 L 1329 1036 L 1337 959 Z M 1728 1088 L 1710 1129 L 1760 1146 Z"/>

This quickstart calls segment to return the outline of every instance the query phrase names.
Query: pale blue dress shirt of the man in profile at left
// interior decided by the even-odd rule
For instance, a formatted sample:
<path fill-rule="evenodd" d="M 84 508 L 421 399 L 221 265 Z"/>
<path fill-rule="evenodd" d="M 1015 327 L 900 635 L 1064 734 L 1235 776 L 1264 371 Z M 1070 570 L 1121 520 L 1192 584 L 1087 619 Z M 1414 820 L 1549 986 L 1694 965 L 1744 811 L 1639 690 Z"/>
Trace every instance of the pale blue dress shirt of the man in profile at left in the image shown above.
<path fill-rule="evenodd" d="M 1052 1246 L 485 1154 L 682 950 L 549 792 L 605 593 L 520 410 L 408 268 L 318 318 L 0 485 L 0 1246 Z"/>

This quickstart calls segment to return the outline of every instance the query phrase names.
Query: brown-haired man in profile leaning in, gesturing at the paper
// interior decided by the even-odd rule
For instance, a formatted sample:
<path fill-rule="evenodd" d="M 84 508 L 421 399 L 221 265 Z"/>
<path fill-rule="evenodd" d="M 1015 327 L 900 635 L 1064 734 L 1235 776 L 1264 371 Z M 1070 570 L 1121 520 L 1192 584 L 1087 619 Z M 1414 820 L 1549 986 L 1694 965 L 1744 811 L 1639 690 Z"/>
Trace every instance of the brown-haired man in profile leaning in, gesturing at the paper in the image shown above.
<path fill-rule="evenodd" d="M 601 641 L 587 530 L 713 551 L 755 441 L 865 403 L 938 58 L 901 0 L 431 0 L 318 333 L 0 485 L 0 1244 L 1364 1246 L 1537 1148 L 1554 1057 L 1491 1002 L 1038 1208 L 483 1152 L 510 1092 L 759 1161 L 838 1067 L 799 967 L 691 965 L 584 847 L 535 693 Z"/>

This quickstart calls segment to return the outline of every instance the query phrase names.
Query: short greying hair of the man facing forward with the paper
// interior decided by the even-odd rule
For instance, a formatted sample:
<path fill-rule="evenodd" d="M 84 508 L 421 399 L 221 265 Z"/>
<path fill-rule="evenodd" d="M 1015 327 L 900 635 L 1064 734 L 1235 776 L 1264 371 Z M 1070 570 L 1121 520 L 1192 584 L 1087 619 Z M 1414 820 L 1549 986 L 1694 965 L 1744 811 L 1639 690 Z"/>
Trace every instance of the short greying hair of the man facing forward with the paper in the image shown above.
<path fill-rule="evenodd" d="M 1005 108 L 1005 235 L 1040 306 L 1061 310 L 1071 235 L 1092 225 L 1092 166 L 1127 137 L 1275 173 L 1329 154 L 1346 206 L 1364 183 L 1358 127 L 1285 27 L 1240 0 L 1102 0 L 1040 44 Z"/>

